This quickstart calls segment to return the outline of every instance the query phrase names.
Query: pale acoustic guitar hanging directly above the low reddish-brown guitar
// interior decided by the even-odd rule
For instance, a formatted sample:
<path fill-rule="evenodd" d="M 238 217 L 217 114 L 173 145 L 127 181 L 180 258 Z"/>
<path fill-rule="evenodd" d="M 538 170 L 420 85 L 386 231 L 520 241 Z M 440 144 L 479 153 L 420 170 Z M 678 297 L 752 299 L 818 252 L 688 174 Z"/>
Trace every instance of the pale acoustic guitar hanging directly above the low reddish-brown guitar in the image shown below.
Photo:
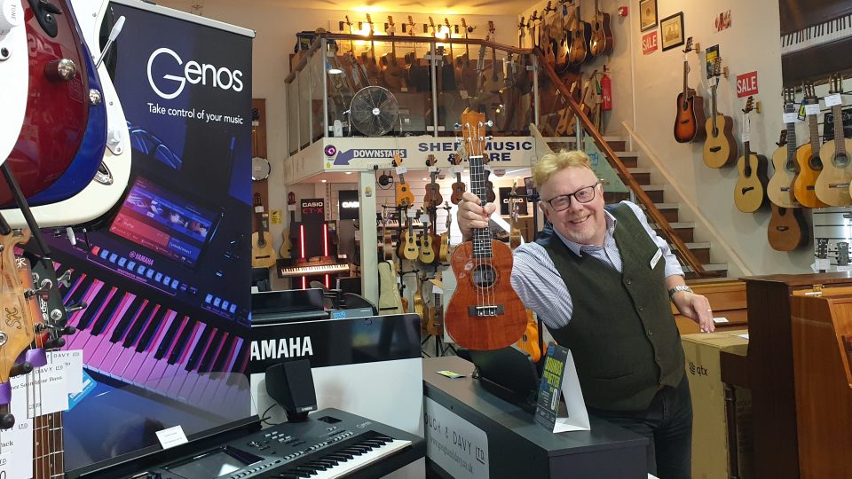
<path fill-rule="evenodd" d="M 796 91 L 792 87 L 784 89 L 784 112 L 785 115 L 793 117 L 796 115 Z M 796 201 L 793 193 L 793 182 L 796 180 L 796 123 L 794 118 L 785 122 L 786 130 L 781 131 L 782 141 L 778 142 L 778 149 L 772 153 L 772 164 L 775 173 L 769 178 L 766 187 L 766 195 L 779 207 L 798 208 L 801 205 Z"/>

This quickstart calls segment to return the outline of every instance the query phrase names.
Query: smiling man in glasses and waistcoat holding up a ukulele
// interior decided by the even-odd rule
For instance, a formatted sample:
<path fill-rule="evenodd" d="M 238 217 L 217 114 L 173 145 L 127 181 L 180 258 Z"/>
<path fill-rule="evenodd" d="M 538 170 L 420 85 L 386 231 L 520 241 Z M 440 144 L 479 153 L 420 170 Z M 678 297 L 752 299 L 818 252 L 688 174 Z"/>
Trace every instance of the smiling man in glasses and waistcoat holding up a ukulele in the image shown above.
<path fill-rule="evenodd" d="M 541 238 L 515 250 L 511 283 L 556 342 L 572 350 L 589 412 L 651 441 L 648 471 L 689 479 L 692 404 L 683 349 L 669 302 L 713 332 L 706 297 L 693 294 L 665 240 L 628 201 L 604 208 L 603 186 L 585 153 L 548 154 L 533 166 Z M 465 240 L 488 225 L 465 192 Z"/>

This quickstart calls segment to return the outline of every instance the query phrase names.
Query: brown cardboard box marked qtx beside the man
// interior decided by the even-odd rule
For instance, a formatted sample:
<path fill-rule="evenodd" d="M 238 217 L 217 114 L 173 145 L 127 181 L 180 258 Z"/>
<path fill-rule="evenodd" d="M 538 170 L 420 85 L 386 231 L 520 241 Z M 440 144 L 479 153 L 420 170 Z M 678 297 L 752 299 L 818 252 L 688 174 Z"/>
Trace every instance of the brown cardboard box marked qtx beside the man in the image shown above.
<path fill-rule="evenodd" d="M 686 355 L 686 374 L 692 395 L 692 477 L 693 479 L 727 479 L 729 448 L 738 451 L 739 477 L 746 479 L 750 467 L 752 397 L 748 389 L 736 389 L 738 444 L 728 444 L 728 421 L 725 413 L 725 389 L 719 366 L 722 350 L 745 350 L 747 331 L 682 336 Z M 746 334 L 743 337 L 742 334 Z"/>

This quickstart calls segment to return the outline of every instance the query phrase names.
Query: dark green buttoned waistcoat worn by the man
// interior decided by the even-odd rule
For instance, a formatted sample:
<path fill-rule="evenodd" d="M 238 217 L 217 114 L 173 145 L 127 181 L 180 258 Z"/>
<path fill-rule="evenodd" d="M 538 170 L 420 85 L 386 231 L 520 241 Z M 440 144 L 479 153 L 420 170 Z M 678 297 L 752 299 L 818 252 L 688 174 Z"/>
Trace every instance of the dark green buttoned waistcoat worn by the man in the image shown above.
<path fill-rule="evenodd" d="M 660 386 L 683 377 L 683 349 L 666 290 L 666 261 L 627 205 L 615 216 L 622 272 L 591 255 L 574 255 L 556 234 L 537 240 L 571 293 L 567 326 L 551 331 L 571 349 L 583 397 L 590 407 L 640 411 Z"/>

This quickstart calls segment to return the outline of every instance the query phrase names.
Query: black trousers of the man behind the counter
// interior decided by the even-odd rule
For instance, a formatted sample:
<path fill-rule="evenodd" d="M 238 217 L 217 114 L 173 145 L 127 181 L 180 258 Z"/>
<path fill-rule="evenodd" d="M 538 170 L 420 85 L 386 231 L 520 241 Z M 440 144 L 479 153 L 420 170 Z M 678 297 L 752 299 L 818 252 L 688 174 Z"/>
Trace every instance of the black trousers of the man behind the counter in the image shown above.
<path fill-rule="evenodd" d="M 692 476 L 692 397 L 686 374 L 676 388 L 657 392 L 644 411 L 588 412 L 622 428 L 647 437 L 648 472 L 659 479 L 690 479 Z"/>

